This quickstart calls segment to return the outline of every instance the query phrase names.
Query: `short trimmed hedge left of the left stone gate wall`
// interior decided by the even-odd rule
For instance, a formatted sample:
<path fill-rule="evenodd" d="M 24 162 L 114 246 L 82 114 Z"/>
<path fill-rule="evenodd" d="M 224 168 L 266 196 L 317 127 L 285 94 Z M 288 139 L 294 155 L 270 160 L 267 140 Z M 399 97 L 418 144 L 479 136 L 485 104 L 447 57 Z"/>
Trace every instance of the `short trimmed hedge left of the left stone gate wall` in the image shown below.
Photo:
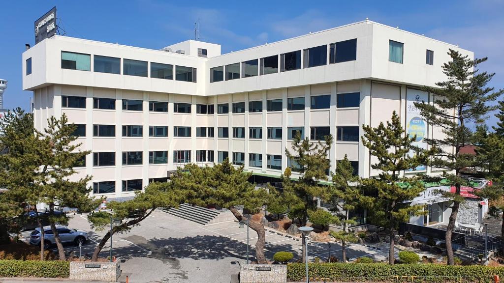
<path fill-rule="evenodd" d="M 0 260 L 0 277 L 69 277 L 70 261 Z"/>

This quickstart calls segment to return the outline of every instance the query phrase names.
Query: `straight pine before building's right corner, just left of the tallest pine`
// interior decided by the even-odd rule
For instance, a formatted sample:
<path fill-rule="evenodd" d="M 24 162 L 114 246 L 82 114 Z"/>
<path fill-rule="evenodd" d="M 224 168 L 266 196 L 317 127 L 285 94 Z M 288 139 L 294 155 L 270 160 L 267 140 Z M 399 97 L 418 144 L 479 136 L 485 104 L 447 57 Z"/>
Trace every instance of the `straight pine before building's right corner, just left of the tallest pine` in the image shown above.
<path fill-rule="evenodd" d="M 362 184 L 375 195 L 372 213 L 375 220 L 380 220 L 380 226 L 389 230 L 389 263 L 394 264 L 394 230 L 399 222 L 407 221 L 411 214 L 419 214 L 422 206 L 406 202 L 424 190 L 416 178 L 402 178 L 400 174 L 401 171 L 426 164 L 427 154 L 413 145 L 416 136 L 405 134 L 395 111 L 387 125 L 381 122 L 376 128 L 367 125 L 362 128 L 362 144 L 377 159 L 371 168 L 379 171 L 377 178 L 362 179 Z"/>

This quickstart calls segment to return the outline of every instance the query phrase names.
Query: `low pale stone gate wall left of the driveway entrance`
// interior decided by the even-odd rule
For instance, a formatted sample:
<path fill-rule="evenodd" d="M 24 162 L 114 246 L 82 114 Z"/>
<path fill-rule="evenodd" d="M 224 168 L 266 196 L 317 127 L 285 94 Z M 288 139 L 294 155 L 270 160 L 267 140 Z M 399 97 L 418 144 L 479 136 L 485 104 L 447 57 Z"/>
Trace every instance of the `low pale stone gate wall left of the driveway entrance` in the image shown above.
<path fill-rule="evenodd" d="M 70 279 L 77 280 L 101 280 L 115 282 L 121 275 L 119 261 L 93 262 L 72 261 L 70 262 Z"/>

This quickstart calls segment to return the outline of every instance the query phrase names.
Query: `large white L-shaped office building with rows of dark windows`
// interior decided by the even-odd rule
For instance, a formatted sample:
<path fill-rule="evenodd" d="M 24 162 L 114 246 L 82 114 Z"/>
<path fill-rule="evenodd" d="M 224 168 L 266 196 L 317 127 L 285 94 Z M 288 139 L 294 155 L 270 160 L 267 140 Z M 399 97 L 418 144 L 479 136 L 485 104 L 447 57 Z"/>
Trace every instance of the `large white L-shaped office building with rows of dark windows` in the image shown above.
<path fill-rule="evenodd" d="M 346 154 L 368 177 L 376 172 L 361 125 L 395 110 L 409 128 L 411 101 L 432 103 L 418 88 L 445 79 L 449 48 L 473 57 L 371 21 L 228 54 L 194 40 L 152 50 L 54 36 L 23 53 L 23 89 L 33 91 L 37 129 L 62 113 L 79 126 L 92 154 L 77 171 L 93 176 L 95 194 L 131 196 L 184 163 L 225 157 L 279 176 L 296 130 L 312 139 L 331 133 L 331 170 Z M 423 125 L 425 135 L 440 135 Z"/>

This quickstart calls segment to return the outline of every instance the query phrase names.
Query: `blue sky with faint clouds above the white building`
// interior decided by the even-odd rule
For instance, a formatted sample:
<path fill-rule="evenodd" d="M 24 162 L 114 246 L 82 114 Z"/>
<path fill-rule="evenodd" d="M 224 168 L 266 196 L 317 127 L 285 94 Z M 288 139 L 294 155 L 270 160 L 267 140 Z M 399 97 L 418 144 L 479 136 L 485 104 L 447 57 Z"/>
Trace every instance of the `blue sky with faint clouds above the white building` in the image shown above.
<path fill-rule="evenodd" d="M 33 22 L 56 6 L 68 36 L 159 49 L 194 39 L 222 52 L 298 36 L 366 17 L 489 57 L 480 66 L 504 86 L 504 1 L 2 1 L 0 78 L 9 81 L 4 108 L 27 109 L 31 92 L 22 91 L 21 53 L 34 43 Z M 489 124 L 495 119 L 490 117 Z"/>

